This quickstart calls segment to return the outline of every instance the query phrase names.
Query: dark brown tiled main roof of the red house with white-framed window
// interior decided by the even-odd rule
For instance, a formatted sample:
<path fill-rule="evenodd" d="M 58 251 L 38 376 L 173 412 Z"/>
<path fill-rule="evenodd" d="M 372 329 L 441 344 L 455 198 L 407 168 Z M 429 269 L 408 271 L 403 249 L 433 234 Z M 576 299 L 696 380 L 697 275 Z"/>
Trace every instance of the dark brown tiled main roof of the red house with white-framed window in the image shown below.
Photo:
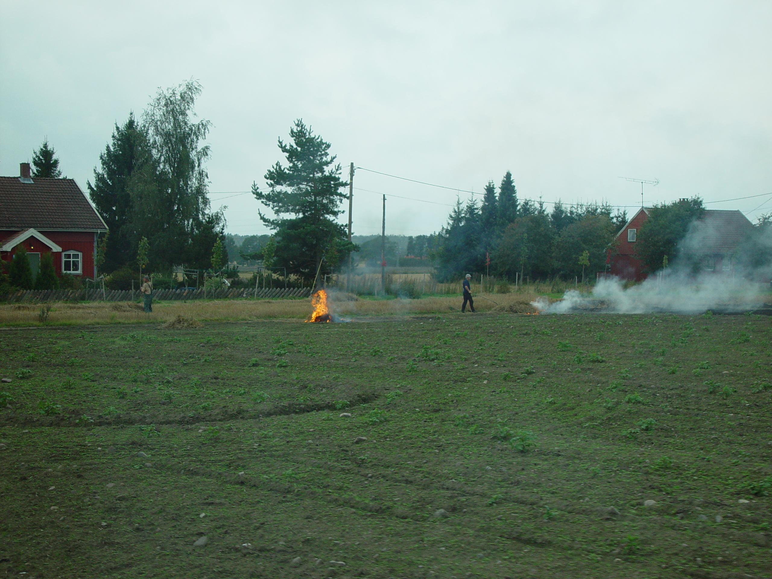
<path fill-rule="evenodd" d="M 107 230 L 73 179 L 32 181 L 0 177 L 0 229 Z"/>

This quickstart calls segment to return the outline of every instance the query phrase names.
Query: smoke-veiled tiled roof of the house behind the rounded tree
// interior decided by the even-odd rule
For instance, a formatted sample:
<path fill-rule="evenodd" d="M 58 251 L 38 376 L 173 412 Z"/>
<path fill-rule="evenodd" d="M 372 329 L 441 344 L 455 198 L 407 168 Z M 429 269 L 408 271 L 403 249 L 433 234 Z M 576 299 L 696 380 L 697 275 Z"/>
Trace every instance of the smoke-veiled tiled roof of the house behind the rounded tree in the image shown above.
<path fill-rule="evenodd" d="M 753 227 L 739 211 L 706 209 L 703 218 L 689 227 L 687 251 L 696 253 L 731 253 Z"/>

